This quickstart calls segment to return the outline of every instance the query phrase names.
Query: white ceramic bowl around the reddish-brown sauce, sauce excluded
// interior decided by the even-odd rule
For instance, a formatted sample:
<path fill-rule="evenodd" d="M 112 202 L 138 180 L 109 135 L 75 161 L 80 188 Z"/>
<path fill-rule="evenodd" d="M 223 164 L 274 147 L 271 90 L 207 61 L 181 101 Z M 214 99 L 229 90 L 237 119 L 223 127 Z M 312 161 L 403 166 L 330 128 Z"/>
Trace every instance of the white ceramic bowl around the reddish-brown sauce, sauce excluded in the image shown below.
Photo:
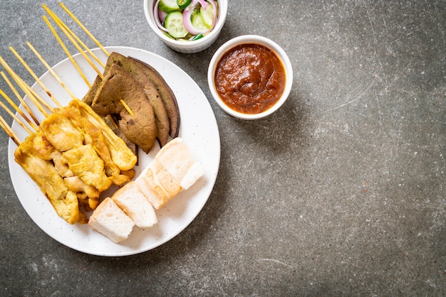
<path fill-rule="evenodd" d="M 276 104 L 274 104 L 269 109 L 266 109 L 264 112 L 261 112 L 259 114 L 243 114 L 241 112 L 236 112 L 234 109 L 231 109 L 222 101 L 222 98 L 219 97 L 217 88 L 215 87 L 214 77 L 215 71 L 217 69 L 217 63 L 219 63 L 219 60 L 225 53 L 228 52 L 228 50 L 231 50 L 237 45 L 243 44 L 258 44 L 269 48 L 277 55 L 277 57 L 279 57 L 285 69 L 285 88 L 284 92 L 279 98 L 279 101 L 277 101 Z M 207 83 L 209 85 L 212 97 L 214 97 L 214 100 L 217 102 L 217 104 L 219 104 L 219 107 L 221 107 L 224 112 L 227 112 L 227 114 L 230 114 L 232 117 L 236 117 L 238 119 L 261 119 L 263 117 L 269 116 L 273 112 L 276 112 L 276 110 L 279 109 L 279 107 L 281 107 L 288 98 L 289 93 L 291 92 L 291 86 L 293 85 L 293 68 L 291 67 L 291 61 L 289 60 L 288 55 L 286 55 L 284 49 L 281 48 L 280 45 L 278 45 L 274 41 L 271 41 L 270 39 L 263 36 L 256 35 L 238 36 L 224 43 L 212 56 L 212 59 L 209 63 L 209 68 L 207 70 Z"/>

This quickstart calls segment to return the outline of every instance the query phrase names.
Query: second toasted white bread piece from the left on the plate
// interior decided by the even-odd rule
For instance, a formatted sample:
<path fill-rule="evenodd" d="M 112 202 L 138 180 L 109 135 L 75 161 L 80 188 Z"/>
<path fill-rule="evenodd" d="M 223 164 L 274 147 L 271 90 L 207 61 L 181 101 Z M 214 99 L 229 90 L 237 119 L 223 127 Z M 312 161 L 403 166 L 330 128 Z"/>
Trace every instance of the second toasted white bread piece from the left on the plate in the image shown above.
<path fill-rule="evenodd" d="M 117 190 L 111 198 L 138 227 L 148 228 L 157 223 L 155 210 L 133 180 Z"/>

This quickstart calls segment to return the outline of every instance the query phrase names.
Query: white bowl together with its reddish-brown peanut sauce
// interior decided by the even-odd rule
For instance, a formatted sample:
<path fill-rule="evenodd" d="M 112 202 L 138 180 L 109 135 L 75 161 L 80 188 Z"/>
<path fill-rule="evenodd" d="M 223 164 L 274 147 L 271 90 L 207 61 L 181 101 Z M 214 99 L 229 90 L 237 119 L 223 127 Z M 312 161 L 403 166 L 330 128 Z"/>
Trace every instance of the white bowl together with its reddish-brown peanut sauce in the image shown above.
<path fill-rule="evenodd" d="M 207 82 L 224 112 L 238 119 L 261 119 L 289 97 L 293 69 L 280 45 L 263 36 L 244 35 L 214 53 Z"/>

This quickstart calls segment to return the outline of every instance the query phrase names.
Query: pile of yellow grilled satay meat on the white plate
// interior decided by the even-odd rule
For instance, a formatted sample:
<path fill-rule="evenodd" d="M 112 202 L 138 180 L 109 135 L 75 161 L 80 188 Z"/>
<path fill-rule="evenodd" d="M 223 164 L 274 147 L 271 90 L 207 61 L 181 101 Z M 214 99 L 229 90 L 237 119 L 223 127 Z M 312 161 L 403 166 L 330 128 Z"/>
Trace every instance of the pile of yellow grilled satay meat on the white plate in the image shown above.
<path fill-rule="evenodd" d="M 86 223 L 79 206 L 94 210 L 102 191 L 135 174 L 136 156 L 130 148 L 77 99 L 44 119 L 14 155 L 56 213 L 70 224 Z"/>

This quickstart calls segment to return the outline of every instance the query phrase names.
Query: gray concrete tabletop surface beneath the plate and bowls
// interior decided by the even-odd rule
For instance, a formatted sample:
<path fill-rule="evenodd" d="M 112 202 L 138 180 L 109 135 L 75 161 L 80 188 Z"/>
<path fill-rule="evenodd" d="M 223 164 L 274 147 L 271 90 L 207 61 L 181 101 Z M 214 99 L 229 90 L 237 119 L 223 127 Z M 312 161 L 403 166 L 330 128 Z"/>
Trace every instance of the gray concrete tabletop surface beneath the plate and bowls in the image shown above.
<path fill-rule="evenodd" d="M 445 1 L 229 1 L 218 41 L 195 55 L 150 32 L 142 1 L 63 3 L 103 45 L 150 50 L 197 82 L 219 124 L 219 175 L 170 242 L 96 257 L 28 217 L 0 133 L 1 296 L 446 294 Z M 42 15 L 40 1 L 0 2 L 0 55 L 11 65 L 9 46 L 26 41 L 50 65 L 65 58 Z M 271 38 L 294 65 L 288 102 L 259 121 L 227 116 L 207 87 L 212 54 L 242 34 Z"/>

